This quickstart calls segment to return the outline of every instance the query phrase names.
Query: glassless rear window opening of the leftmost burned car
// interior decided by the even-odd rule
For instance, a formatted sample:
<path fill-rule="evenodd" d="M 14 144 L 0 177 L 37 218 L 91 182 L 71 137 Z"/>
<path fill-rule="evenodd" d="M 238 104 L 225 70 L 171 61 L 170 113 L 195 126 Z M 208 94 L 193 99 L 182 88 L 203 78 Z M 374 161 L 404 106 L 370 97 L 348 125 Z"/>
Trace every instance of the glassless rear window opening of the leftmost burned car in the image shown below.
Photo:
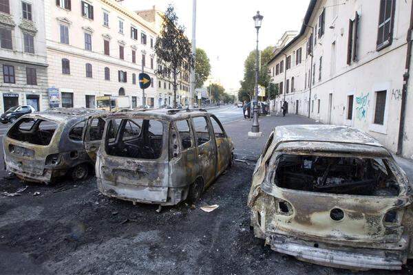
<path fill-rule="evenodd" d="M 58 126 L 49 120 L 22 118 L 8 131 L 8 137 L 31 144 L 49 145 Z"/>

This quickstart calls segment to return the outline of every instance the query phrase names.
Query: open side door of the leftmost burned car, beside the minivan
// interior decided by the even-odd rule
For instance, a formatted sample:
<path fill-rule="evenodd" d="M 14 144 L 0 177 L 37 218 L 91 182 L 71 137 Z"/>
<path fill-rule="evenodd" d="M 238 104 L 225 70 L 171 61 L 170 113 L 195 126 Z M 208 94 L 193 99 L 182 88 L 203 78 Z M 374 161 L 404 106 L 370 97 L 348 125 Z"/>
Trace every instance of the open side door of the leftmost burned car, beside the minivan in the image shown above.
<path fill-rule="evenodd" d="M 98 116 L 91 117 L 87 120 L 85 127 L 83 146 L 85 147 L 87 155 L 95 162 L 96 153 L 98 153 L 100 141 L 103 137 L 103 130 L 105 129 L 105 120 Z"/>

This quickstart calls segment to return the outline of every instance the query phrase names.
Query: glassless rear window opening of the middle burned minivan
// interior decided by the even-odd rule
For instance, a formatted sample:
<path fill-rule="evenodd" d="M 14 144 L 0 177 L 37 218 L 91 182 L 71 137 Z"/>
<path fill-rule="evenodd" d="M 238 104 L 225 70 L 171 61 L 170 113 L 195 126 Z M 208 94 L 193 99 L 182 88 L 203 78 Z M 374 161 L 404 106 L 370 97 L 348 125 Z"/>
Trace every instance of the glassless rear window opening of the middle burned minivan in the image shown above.
<path fill-rule="evenodd" d="M 158 159 L 162 154 L 162 138 L 163 124 L 158 120 L 111 120 L 106 152 L 118 157 Z"/>

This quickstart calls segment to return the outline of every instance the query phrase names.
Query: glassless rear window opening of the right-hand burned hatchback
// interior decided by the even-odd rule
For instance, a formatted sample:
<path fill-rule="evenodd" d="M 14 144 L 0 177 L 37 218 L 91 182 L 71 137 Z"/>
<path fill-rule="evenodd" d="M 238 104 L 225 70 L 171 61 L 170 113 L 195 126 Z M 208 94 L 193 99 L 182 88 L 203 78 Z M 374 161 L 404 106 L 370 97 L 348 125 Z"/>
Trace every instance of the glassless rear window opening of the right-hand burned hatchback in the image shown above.
<path fill-rule="evenodd" d="M 399 195 L 387 159 L 280 155 L 274 181 L 282 188 L 310 192 Z"/>

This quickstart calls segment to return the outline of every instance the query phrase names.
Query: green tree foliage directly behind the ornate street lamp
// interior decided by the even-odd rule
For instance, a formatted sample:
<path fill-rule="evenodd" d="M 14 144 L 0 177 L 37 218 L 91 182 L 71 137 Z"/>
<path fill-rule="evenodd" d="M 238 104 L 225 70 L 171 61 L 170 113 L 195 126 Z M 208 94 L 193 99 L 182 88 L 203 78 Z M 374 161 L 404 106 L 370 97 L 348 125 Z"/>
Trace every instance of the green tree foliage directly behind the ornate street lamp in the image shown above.
<path fill-rule="evenodd" d="M 258 74 L 258 85 L 268 88 L 270 76 L 268 76 L 268 61 L 273 58 L 273 47 L 268 46 L 261 52 L 261 69 Z M 241 89 L 238 98 L 241 101 L 253 99 L 255 89 L 255 50 L 250 52 L 244 61 L 244 78 L 241 81 Z M 268 94 L 268 93 L 267 93 Z"/>

